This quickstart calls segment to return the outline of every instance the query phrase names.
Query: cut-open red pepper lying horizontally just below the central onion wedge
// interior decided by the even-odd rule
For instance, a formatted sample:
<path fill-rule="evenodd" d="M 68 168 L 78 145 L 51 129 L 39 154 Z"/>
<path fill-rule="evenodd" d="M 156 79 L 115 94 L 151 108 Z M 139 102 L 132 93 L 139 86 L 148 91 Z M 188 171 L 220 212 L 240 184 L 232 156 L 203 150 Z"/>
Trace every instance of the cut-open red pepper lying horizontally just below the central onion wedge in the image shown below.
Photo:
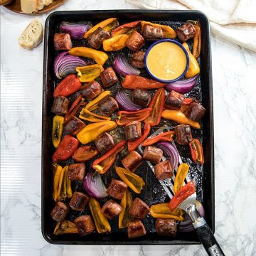
<path fill-rule="evenodd" d="M 149 116 L 150 111 L 150 108 L 134 112 L 119 111 L 117 112 L 118 116 L 116 122 L 118 125 L 126 125 L 129 124 L 129 122 L 133 121 L 143 121 L 144 119 L 146 119 L 146 117 Z"/>

